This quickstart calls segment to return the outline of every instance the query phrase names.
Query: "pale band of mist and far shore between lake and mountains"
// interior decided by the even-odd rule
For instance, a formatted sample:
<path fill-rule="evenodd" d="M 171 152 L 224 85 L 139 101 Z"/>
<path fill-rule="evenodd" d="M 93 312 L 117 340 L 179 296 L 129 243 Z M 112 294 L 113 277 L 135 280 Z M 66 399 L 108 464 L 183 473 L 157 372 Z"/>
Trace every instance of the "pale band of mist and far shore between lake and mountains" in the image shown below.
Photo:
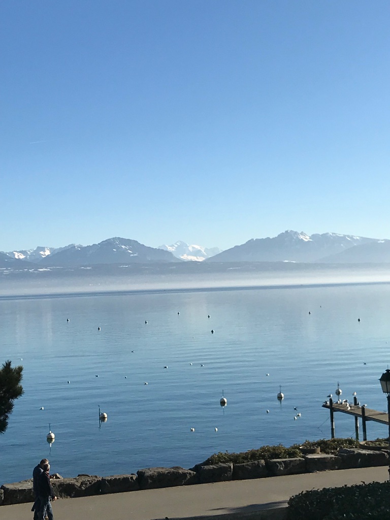
<path fill-rule="evenodd" d="M 390 282 L 390 264 L 335 266 L 292 262 L 190 262 L 0 269 L 2 295 L 377 282 Z"/>

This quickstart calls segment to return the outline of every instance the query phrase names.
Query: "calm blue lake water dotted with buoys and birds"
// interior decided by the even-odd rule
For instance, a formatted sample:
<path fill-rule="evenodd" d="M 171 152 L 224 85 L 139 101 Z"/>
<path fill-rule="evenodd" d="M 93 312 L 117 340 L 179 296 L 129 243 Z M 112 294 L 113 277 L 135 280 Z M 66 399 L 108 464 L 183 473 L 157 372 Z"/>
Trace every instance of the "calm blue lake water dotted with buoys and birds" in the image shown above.
<path fill-rule="evenodd" d="M 386 408 L 389 313 L 388 284 L 0 299 L 0 361 L 23 365 L 25 391 L 0 436 L 0 484 L 43 457 L 62 476 L 110 475 L 329 438 L 321 404 L 337 381 Z M 351 417 L 335 421 L 354 436 Z"/>

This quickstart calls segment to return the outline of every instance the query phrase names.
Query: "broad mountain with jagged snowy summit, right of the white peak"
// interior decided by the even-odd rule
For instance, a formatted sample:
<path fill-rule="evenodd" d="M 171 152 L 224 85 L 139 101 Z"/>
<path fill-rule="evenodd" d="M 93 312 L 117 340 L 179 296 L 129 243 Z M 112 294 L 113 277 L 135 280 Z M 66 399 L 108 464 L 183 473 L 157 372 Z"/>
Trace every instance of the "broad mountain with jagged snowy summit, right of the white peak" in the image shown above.
<path fill-rule="evenodd" d="M 373 238 L 322 233 L 307 235 L 287 230 L 274 238 L 258 238 L 227 249 L 207 262 L 318 262 L 354 246 L 378 241 Z"/>

